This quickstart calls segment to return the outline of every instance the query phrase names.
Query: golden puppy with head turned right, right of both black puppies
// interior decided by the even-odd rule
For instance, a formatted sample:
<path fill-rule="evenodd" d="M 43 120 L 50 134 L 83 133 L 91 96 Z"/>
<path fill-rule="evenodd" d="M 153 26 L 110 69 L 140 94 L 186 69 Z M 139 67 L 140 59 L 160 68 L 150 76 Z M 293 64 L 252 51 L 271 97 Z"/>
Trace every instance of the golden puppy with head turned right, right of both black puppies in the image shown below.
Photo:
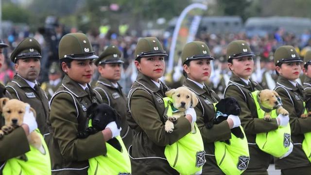
<path fill-rule="evenodd" d="M 264 89 L 259 91 L 260 107 L 265 111 L 264 120 L 271 120 L 271 110 L 276 109 L 276 114 L 288 115 L 288 111 L 285 110 L 281 103 L 278 101 L 280 96 L 276 91 L 270 89 Z M 269 112 L 267 112 L 269 111 Z"/>

